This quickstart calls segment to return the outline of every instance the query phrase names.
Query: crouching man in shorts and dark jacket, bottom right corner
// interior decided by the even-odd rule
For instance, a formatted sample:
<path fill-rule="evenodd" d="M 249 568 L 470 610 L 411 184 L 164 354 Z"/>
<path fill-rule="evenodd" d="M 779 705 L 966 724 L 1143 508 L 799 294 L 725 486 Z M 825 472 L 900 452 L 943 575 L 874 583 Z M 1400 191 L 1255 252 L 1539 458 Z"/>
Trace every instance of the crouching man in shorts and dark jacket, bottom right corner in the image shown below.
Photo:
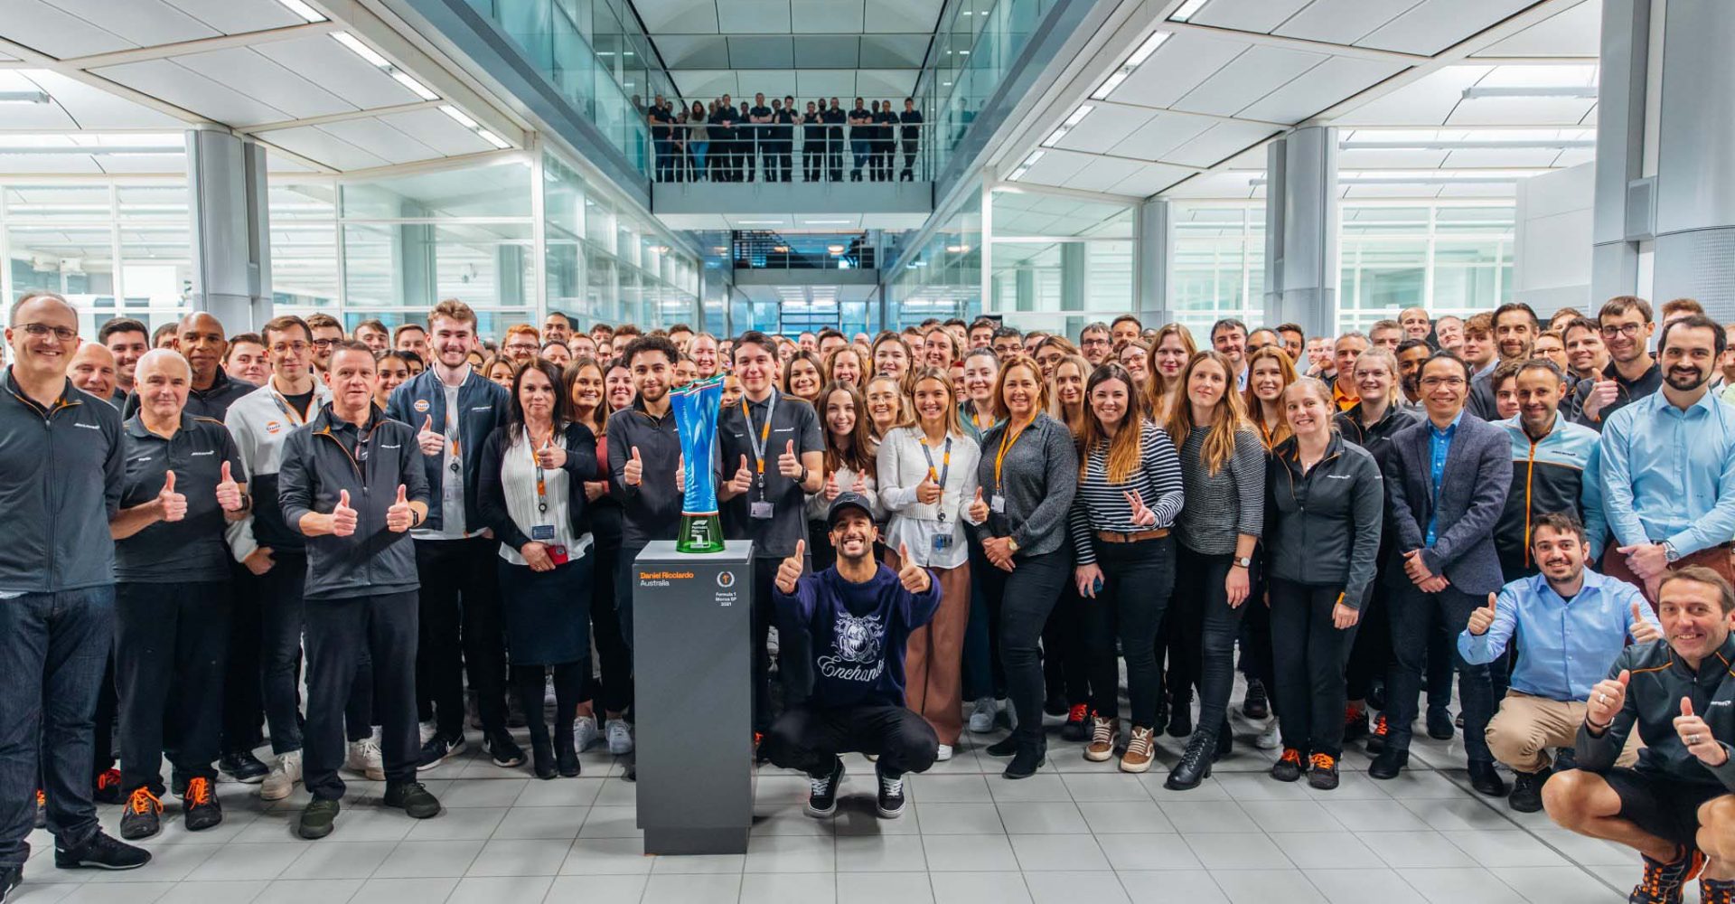
<path fill-rule="evenodd" d="M 1627 901 L 1678 904 L 1699 880 L 1706 904 L 1735 904 L 1735 590 L 1707 567 L 1657 588 L 1662 640 L 1633 644 L 1591 689 L 1579 769 L 1542 788 L 1562 828 L 1636 848 L 1645 876 Z M 1615 767 L 1633 729 L 1638 765 Z"/>

